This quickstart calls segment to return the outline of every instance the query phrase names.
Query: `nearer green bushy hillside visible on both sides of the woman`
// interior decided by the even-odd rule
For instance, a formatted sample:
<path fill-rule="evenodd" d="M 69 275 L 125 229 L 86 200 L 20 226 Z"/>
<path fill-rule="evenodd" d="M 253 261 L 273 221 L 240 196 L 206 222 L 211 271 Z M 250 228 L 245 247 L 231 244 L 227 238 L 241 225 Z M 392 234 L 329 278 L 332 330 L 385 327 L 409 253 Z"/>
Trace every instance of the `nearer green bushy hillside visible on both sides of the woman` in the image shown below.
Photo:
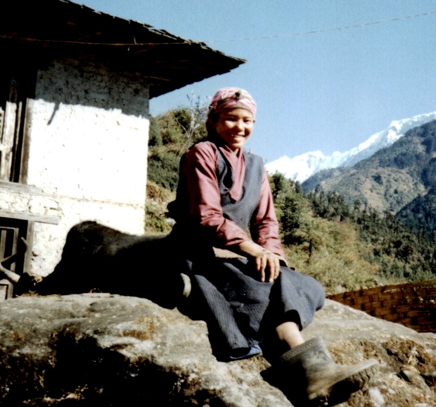
<path fill-rule="evenodd" d="M 191 101 L 151 120 L 146 232 L 171 229 L 166 204 L 175 197 L 180 157 L 206 134 L 204 115 L 204 106 Z M 350 205 L 349 195 L 305 193 L 278 173 L 270 183 L 289 264 L 317 278 L 327 293 L 436 278 L 434 241 L 389 211 L 377 212 L 363 199 Z"/>

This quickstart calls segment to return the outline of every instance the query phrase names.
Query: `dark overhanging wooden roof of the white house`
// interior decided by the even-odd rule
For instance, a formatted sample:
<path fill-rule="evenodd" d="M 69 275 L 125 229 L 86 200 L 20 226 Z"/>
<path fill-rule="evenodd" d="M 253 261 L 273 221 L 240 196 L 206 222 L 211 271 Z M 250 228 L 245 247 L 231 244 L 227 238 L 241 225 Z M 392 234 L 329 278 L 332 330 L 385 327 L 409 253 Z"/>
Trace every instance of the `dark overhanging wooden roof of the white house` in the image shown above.
<path fill-rule="evenodd" d="M 204 43 L 67 0 L 2 4 L 0 47 L 3 44 L 33 50 L 33 55 L 79 54 L 112 70 L 141 74 L 150 85 L 150 97 L 229 72 L 245 62 Z"/>

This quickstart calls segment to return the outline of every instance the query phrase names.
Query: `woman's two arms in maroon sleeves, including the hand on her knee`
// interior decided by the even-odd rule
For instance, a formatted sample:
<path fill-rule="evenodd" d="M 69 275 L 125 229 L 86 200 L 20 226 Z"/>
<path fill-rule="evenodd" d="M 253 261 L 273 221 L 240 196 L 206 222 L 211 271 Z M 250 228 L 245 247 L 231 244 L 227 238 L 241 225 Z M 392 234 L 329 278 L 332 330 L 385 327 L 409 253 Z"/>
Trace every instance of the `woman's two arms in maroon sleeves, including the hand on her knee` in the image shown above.
<path fill-rule="evenodd" d="M 254 228 L 257 230 L 256 237 L 264 243 L 263 246 L 250 240 L 247 233 L 233 221 L 224 218 L 216 174 L 217 163 L 217 151 L 209 143 L 197 144 L 185 156 L 182 171 L 189 191 L 190 215 L 205 228 L 208 236 L 216 238 L 214 245 L 253 259 L 260 281 L 272 282 L 280 273 L 283 251 L 277 237 L 275 212 L 273 217 L 270 213 L 274 207 L 266 173 L 262 179 L 261 199 Z"/>

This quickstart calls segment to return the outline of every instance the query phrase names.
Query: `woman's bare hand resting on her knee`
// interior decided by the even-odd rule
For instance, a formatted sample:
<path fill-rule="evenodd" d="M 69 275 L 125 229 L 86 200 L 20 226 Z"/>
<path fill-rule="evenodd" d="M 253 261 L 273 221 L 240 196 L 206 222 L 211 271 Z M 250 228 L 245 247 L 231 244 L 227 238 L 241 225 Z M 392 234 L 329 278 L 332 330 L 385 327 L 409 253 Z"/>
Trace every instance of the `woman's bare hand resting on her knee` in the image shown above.
<path fill-rule="evenodd" d="M 272 283 L 279 276 L 280 256 L 252 241 L 242 242 L 236 246 L 240 254 L 244 254 L 254 260 L 261 282 L 269 281 Z"/>

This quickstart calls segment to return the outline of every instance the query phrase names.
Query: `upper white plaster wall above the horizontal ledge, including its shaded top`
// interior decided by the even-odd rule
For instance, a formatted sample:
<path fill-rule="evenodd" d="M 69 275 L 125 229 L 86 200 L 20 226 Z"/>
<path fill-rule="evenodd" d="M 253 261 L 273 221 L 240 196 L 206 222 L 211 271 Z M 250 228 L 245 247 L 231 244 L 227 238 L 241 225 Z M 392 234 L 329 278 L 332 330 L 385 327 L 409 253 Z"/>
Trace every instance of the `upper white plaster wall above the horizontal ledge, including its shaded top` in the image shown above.
<path fill-rule="evenodd" d="M 39 71 L 28 111 L 28 184 L 75 198 L 144 204 L 147 86 L 54 62 Z"/>

